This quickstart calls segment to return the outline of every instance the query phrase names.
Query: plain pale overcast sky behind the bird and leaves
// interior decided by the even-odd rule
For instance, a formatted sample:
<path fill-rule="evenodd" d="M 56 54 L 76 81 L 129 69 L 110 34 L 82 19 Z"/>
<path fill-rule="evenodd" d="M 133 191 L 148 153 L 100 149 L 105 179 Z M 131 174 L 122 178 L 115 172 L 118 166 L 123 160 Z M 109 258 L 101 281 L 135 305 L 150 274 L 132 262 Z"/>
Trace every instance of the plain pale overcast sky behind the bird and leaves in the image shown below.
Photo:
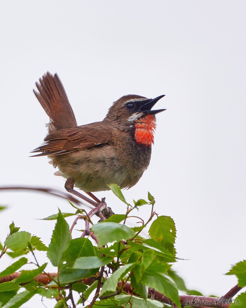
<path fill-rule="evenodd" d="M 46 157 L 28 157 L 46 135 L 32 89 L 47 70 L 60 76 L 79 125 L 102 120 L 122 95 L 165 94 L 150 166 L 124 194 L 149 190 L 157 213 L 174 219 L 178 257 L 189 260 L 173 268 L 189 288 L 226 293 L 236 278 L 223 274 L 246 255 L 245 14 L 245 1 L 2 2 L 0 185 L 64 190 Z M 96 195 L 124 213 L 112 192 Z M 54 221 L 34 218 L 70 211 L 33 193 L 1 193 L 0 203 L 9 207 L 2 242 L 13 220 L 48 245 Z M 23 307 L 43 307 L 37 300 Z"/>

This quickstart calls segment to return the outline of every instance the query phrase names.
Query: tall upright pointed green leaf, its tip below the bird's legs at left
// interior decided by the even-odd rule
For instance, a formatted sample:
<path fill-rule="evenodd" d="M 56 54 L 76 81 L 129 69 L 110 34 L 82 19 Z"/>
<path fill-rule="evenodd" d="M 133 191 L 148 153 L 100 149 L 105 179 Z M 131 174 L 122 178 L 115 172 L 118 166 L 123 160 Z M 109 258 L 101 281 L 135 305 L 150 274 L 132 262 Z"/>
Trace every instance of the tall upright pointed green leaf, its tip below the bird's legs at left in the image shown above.
<path fill-rule="evenodd" d="M 70 241 L 69 225 L 62 216 L 59 210 L 57 223 L 52 234 L 50 245 L 47 250 L 47 257 L 50 259 L 52 265 L 58 266 L 62 253 L 68 248 Z"/>

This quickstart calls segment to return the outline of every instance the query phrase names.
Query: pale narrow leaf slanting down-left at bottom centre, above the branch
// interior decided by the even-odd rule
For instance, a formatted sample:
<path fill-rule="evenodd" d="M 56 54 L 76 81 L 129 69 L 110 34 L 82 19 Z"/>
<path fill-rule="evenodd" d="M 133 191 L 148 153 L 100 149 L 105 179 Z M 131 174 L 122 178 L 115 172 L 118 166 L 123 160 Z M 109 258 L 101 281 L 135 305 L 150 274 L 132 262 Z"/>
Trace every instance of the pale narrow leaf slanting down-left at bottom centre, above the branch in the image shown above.
<path fill-rule="evenodd" d="M 117 288 L 117 283 L 134 267 L 135 263 L 129 263 L 118 268 L 113 274 L 105 281 L 102 286 L 101 295 L 105 292 L 114 292 Z"/>

